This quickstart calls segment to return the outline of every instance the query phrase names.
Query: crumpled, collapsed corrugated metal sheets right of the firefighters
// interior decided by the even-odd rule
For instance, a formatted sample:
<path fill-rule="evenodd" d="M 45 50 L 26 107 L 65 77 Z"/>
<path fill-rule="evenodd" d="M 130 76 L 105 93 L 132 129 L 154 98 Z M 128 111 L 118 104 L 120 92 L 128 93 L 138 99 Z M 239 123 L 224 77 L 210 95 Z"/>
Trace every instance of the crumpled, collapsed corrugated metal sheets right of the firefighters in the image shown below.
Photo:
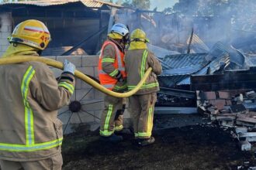
<path fill-rule="evenodd" d="M 245 61 L 246 57 L 237 49 L 218 42 L 208 54 L 165 56 L 161 59 L 164 71 L 159 76 L 159 81 L 164 87 L 190 84 L 190 75 L 206 75 L 208 68 L 210 73 L 215 73 L 220 70 L 222 63 L 228 70 L 244 70 L 247 68 Z M 249 61 L 251 64 L 256 63 L 256 59 Z"/>

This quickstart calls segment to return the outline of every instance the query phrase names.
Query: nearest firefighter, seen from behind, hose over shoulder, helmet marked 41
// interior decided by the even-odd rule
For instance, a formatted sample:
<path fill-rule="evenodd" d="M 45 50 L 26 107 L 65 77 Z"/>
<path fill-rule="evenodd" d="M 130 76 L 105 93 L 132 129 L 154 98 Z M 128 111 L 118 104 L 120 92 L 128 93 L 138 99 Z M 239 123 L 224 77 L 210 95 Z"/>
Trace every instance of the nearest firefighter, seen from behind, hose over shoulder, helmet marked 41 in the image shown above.
<path fill-rule="evenodd" d="M 50 42 L 43 22 L 21 22 L 3 57 L 34 56 Z M 75 66 L 64 61 L 60 80 L 44 63 L 0 66 L 0 165 L 9 169 L 61 169 L 62 123 L 57 110 L 74 92 Z"/>

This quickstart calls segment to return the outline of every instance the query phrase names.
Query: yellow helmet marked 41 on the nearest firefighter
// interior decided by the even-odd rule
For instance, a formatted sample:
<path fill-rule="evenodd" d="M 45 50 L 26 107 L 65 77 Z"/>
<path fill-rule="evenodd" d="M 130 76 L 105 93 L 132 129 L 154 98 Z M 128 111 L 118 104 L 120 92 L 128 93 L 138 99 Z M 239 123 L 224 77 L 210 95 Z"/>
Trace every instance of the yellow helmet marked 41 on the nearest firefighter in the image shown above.
<path fill-rule="evenodd" d="M 50 32 L 43 22 L 29 19 L 16 26 L 9 42 L 22 43 L 43 50 L 50 42 Z"/>

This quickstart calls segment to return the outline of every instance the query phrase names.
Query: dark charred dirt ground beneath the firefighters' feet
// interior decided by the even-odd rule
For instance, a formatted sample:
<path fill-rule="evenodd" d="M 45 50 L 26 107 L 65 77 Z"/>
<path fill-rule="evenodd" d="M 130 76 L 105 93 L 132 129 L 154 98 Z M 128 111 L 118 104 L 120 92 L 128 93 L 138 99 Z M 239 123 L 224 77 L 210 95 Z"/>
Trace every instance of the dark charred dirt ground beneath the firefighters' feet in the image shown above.
<path fill-rule="evenodd" d="M 183 118 L 182 118 L 183 117 Z M 195 125 L 164 127 L 171 120 L 190 120 Z M 201 120 L 201 121 L 200 121 Z M 207 124 L 201 117 L 155 117 L 154 145 L 138 148 L 133 136 L 107 145 L 98 132 L 78 130 L 64 139 L 64 170 L 67 169 L 248 169 L 256 166 L 254 151 L 240 151 L 230 131 Z M 180 122 L 180 121 L 178 121 Z M 198 123 L 200 122 L 200 123 Z M 179 126 L 180 125 L 180 126 Z"/>

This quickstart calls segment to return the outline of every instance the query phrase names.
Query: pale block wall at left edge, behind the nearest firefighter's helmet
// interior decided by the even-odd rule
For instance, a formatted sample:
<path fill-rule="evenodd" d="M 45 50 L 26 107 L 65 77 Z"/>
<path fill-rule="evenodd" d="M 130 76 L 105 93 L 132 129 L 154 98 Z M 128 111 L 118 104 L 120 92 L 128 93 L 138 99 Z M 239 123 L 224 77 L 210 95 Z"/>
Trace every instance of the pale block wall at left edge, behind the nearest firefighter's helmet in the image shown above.
<path fill-rule="evenodd" d="M 0 57 L 9 46 L 7 38 L 12 34 L 12 18 L 10 13 L 0 13 Z"/>

